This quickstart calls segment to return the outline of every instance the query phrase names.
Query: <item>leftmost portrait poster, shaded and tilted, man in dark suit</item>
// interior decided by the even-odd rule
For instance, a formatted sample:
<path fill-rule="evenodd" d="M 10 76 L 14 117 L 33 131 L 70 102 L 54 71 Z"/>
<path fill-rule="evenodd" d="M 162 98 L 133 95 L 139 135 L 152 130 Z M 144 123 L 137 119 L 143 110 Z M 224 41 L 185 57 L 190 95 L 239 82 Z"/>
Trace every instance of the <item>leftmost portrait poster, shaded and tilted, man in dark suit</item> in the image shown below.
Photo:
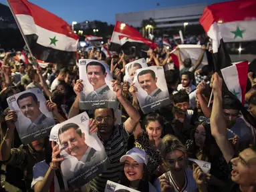
<path fill-rule="evenodd" d="M 46 99 L 38 88 L 29 89 L 7 98 L 10 110 L 16 111 L 15 123 L 23 144 L 49 136 L 55 120 L 47 110 Z"/>

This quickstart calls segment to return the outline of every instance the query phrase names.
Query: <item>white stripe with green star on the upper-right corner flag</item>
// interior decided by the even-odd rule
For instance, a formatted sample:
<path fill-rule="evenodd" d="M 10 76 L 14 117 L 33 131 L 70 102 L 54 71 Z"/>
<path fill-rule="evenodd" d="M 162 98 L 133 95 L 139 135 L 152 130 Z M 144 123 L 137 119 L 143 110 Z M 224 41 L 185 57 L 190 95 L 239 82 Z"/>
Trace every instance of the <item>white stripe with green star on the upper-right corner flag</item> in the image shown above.
<path fill-rule="evenodd" d="M 221 32 L 221 36 L 223 41 L 226 42 L 240 42 L 240 41 L 254 41 L 255 40 L 255 29 L 256 22 L 255 21 L 234 21 L 229 23 L 218 23 L 219 30 Z M 243 33 L 242 37 L 235 37 L 235 34 L 231 31 L 237 31 L 237 27 Z"/>

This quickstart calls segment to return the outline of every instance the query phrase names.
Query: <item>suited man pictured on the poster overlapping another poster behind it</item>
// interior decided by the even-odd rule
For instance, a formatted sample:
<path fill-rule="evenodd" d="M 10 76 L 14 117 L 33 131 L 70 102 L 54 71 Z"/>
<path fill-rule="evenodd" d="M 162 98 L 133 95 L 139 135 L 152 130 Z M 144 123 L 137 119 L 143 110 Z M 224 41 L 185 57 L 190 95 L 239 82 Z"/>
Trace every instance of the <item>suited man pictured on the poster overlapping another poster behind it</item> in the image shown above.
<path fill-rule="evenodd" d="M 151 69 L 146 69 L 138 73 L 138 83 L 140 83 L 140 87 L 148 93 L 148 96 L 146 96 L 145 99 L 145 105 L 149 105 L 155 101 L 168 97 L 168 93 L 159 89 L 156 82 L 156 73 Z"/>

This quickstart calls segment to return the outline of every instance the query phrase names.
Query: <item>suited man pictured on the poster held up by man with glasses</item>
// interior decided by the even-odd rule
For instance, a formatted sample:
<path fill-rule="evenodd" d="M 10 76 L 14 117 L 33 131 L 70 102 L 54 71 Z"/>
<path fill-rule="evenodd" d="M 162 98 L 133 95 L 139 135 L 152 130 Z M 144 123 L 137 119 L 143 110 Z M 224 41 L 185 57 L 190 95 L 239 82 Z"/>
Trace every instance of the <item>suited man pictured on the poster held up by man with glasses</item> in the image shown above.
<path fill-rule="evenodd" d="M 116 95 L 110 90 L 106 84 L 105 78 L 107 77 L 106 69 L 102 63 L 92 61 L 86 65 L 86 73 L 88 81 L 94 87 L 94 91 L 86 96 L 86 101 L 96 101 L 104 99 L 115 99 Z M 81 98 L 82 99 L 82 98 Z M 82 99 L 84 100 L 84 99 Z"/>

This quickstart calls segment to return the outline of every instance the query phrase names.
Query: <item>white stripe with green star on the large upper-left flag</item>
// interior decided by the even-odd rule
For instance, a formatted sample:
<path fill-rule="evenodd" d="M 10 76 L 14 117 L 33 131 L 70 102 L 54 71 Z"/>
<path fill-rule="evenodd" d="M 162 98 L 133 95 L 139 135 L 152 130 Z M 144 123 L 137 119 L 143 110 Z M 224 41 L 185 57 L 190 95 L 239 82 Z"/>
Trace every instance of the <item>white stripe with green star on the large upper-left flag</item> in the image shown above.
<path fill-rule="evenodd" d="M 38 25 L 35 25 L 33 17 L 30 15 L 16 15 L 21 29 L 24 35 L 36 34 L 38 36 L 37 43 L 44 47 L 51 47 L 53 49 L 59 49 L 61 51 L 76 51 L 78 47 L 78 41 L 61 33 L 55 33 L 44 29 Z M 51 44 L 51 39 L 57 40 L 55 45 Z"/>

